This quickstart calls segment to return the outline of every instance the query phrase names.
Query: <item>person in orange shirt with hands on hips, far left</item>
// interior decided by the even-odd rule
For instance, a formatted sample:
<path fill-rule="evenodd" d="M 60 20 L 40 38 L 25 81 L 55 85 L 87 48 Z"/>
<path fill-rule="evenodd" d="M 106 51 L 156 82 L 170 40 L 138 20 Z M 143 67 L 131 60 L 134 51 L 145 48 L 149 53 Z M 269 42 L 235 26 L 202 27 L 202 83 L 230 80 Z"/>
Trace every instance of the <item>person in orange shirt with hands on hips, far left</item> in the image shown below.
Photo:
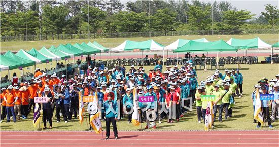
<path fill-rule="evenodd" d="M 16 114 L 14 105 L 17 101 L 18 97 L 15 96 L 13 92 L 13 86 L 10 85 L 8 88 L 8 92 L 4 96 L 4 100 L 6 101 L 6 111 L 7 111 L 7 123 L 10 122 L 10 113 L 12 112 L 13 120 L 16 122 Z"/>

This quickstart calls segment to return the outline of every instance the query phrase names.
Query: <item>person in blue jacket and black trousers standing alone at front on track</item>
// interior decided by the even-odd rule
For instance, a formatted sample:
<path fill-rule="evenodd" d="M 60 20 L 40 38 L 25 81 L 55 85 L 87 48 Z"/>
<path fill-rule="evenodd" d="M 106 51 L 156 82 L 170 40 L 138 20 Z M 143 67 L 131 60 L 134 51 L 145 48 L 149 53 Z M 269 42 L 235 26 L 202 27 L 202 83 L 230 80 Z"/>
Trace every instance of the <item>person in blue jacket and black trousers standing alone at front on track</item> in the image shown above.
<path fill-rule="evenodd" d="M 113 125 L 113 133 L 115 139 L 118 139 L 116 126 L 117 120 L 117 101 L 112 100 L 112 94 L 108 94 L 108 100 L 103 103 L 103 111 L 106 114 L 106 140 L 110 138 L 110 126 Z"/>

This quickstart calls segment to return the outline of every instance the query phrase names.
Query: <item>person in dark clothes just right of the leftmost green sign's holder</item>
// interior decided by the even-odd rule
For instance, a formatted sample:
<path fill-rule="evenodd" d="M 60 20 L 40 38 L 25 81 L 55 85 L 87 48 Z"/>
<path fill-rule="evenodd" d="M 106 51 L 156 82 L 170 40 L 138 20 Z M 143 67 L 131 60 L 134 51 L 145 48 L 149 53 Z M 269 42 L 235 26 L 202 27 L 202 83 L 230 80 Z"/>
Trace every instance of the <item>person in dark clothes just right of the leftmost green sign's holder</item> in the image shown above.
<path fill-rule="evenodd" d="M 57 123 L 60 122 L 60 114 L 61 111 L 65 123 L 68 123 L 67 116 L 65 114 L 65 107 L 64 107 L 64 99 L 65 99 L 65 93 L 62 91 L 62 88 L 64 89 L 64 86 L 58 88 L 57 92 L 54 93 L 54 98 L 56 99 L 56 118 Z"/>

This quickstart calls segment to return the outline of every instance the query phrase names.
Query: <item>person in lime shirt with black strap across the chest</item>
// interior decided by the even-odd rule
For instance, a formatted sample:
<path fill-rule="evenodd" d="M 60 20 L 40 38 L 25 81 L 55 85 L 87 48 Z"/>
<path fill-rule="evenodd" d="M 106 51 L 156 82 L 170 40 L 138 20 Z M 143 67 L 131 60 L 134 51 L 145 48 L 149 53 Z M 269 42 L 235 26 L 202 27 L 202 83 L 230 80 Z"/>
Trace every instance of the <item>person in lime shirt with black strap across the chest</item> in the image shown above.
<path fill-rule="evenodd" d="M 231 92 L 229 91 L 230 84 L 224 84 L 224 90 L 221 92 L 222 95 L 222 105 L 221 105 L 221 117 L 219 117 L 219 122 L 222 122 L 222 113 L 223 109 L 225 108 L 225 119 L 228 118 L 228 108 L 230 105 L 230 96 Z M 219 115 L 220 116 L 220 115 Z"/>

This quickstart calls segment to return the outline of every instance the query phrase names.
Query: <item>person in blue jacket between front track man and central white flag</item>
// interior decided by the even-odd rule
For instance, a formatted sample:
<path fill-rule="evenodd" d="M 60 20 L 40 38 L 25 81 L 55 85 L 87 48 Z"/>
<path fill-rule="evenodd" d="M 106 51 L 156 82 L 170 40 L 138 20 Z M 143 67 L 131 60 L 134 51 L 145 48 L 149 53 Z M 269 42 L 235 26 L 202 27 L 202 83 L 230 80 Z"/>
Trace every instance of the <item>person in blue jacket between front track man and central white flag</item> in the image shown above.
<path fill-rule="evenodd" d="M 126 105 L 126 107 L 124 107 Z M 126 89 L 126 94 L 123 97 L 123 107 L 127 112 L 131 111 L 131 105 L 133 105 L 133 94 L 131 93 L 131 89 Z M 132 121 L 132 114 L 128 115 L 128 123 Z"/>

